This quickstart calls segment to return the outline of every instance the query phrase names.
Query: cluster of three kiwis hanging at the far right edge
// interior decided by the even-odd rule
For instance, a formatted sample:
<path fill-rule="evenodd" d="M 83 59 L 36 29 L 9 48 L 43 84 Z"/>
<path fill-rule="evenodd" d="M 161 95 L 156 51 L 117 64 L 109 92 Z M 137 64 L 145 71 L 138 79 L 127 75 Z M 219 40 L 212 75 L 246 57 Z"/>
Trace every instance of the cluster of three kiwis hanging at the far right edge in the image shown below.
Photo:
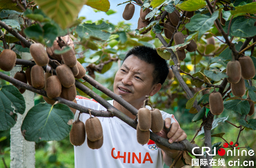
<path fill-rule="evenodd" d="M 242 97 L 245 92 L 244 79 L 252 79 L 256 70 L 251 57 L 243 56 L 238 60 L 231 60 L 227 64 L 228 82 L 231 85 L 231 91 L 234 96 Z"/>

